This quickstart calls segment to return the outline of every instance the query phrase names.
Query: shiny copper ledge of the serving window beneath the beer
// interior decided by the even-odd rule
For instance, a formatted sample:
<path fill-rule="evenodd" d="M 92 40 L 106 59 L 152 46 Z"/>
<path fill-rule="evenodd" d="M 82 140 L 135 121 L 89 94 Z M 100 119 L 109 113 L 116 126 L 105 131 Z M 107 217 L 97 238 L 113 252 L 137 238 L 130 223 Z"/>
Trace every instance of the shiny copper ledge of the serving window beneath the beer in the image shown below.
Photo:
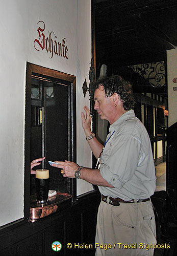
<path fill-rule="evenodd" d="M 53 214 L 59 209 L 59 204 L 70 199 L 72 196 L 67 193 L 57 193 L 57 195 L 48 198 L 46 204 L 36 202 L 36 195 L 30 196 L 30 221 L 44 218 Z"/>

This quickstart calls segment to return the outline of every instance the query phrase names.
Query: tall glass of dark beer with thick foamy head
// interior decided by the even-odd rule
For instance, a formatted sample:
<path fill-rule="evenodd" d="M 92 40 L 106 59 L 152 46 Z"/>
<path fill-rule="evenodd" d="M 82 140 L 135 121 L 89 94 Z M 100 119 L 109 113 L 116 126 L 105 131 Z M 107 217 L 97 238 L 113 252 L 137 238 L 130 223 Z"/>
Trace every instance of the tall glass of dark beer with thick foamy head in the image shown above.
<path fill-rule="evenodd" d="M 36 170 L 36 201 L 37 203 L 48 202 L 49 170 Z"/>

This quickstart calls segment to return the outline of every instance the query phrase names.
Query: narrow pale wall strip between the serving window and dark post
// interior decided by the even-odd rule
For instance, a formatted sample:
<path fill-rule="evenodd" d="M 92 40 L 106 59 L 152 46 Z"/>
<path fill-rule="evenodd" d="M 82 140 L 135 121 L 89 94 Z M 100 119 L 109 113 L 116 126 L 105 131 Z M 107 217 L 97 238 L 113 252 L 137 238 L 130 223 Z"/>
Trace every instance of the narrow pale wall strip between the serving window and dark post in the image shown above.
<path fill-rule="evenodd" d="M 78 13 L 80 13 L 77 18 L 77 81 L 80 80 L 82 82 L 80 82 L 79 87 L 77 87 L 77 163 L 81 166 L 91 167 L 91 150 L 85 139 L 81 121 L 81 112 L 84 111 L 83 106 L 87 105 L 88 108 L 90 106 L 89 92 L 86 93 L 86 97 L 84 98 L 81 88 L 85 78 L 87 80 L 87 86 L 89 87 L 88 71 L 91 58 L 90 52 L 86 51 L 86 49 L 91 48 L 91 2 L 87 0 L 84 1 L 85 4 L 82 0 L 79 2 L 82 3 L 82 5 L 78 5 L 77 10 Z M 84 10 L 89 11 L 86 12 Z M 81 195 L 92 189 L 92 184 L 89 184 L 84 180 L 77 180 L 77 195 Z"/>

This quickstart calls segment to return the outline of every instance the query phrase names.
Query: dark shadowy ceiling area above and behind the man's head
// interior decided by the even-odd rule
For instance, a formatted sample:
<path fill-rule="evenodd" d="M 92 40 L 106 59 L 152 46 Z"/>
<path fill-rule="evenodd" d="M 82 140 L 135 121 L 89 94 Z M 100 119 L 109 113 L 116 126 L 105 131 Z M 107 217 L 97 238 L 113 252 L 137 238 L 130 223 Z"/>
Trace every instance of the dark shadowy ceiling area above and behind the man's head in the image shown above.
<path fill-rule="evenodd" d="M 134 82 L 140 77 L 127 66 L 165 61 L 177 46 L 175 0 L 94 0 L 94 7 L 96 77 L 105 64 L 107 75 L 125 73 Z M 141 85 L 134 91 L 167 96 L 166 85 Z"/>

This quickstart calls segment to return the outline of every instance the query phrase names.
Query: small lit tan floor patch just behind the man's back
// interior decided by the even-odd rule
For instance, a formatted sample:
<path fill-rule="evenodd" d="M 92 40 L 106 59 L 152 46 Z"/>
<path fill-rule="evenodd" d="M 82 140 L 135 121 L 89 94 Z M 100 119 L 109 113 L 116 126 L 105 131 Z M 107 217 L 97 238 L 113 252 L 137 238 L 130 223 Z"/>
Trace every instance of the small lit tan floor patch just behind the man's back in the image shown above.
<path fill-rule="evenodd" d="M 156 191 L 166 190 L 166 162 L 156 166 Z"/>

